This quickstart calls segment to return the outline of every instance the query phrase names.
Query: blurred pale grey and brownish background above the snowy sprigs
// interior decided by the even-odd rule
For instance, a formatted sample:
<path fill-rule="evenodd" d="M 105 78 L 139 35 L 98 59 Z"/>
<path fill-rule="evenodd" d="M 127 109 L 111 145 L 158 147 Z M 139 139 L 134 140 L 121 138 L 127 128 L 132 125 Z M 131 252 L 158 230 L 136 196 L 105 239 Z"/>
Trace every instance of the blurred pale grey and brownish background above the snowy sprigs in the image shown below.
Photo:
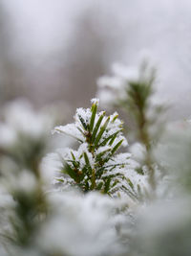
<path fill-rule="evenodd" d="M 0 104 L 25 97 L 74 113 L 113 62 L 149 53 L 171 119 L 190 117 L 190 0 L 0 0 Z"/>

